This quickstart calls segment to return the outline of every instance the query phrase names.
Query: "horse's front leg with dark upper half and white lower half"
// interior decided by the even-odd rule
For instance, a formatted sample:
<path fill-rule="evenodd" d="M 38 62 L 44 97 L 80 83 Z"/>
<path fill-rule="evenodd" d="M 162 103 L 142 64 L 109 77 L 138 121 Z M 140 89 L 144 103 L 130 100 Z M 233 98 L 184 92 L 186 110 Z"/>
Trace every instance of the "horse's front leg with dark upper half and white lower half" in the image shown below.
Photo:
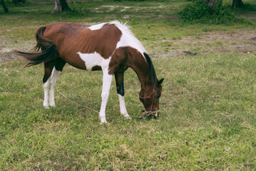
<path fill-rule="evenodd" d="M 125 91 L 123 88 L 123 72 L 115 73 L 115 78 L 116 78 L 116 90 L 117 90 L 118 98 L 120 102 L 120 112 L 124 117 L 130 118 L 130 115 L 128 115 L 128 112 L 126 110 Z"/>

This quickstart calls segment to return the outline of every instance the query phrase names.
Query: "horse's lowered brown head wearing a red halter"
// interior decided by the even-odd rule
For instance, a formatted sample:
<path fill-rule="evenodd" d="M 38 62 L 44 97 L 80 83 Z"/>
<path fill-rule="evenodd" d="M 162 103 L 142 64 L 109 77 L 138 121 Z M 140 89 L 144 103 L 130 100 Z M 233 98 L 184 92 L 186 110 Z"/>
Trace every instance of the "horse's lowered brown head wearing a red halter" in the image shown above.
<path fill-rule="evenodd" d="M 156 88 L 149 88 L 148 90 L 140 90 L 140 101 L 143 103 L 147 112 L 159 110 L 159 98 L 162 93 L 163 78 L 158 81 Z"/>

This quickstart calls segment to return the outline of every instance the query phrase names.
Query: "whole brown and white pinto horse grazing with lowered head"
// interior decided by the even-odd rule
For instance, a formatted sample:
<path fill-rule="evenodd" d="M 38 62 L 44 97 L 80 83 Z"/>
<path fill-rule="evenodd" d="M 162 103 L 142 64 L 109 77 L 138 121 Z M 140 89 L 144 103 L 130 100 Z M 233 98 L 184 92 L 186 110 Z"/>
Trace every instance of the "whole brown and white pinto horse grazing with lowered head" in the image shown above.
<path fill-rule="evenodd" d="M 68 63 L 83 70 L 103 71 L 101 123 L 106 123 L 105 111 L 113 75 L 116 78 L 121 114 L 126 118 L 130 117 L 126 110 L 123 89 L 123 73 L 128 67 L 135 71 L 140 81 L 139 98 L 145 110 L 159 110 L 163 79 L 158 81 L 145 48 L 126 24 L 119 21 L 94 26 L 56 23 L 41 26 L 35 36 L 37 44 L 34 53 L 15 52 L 29 60 L 26 67 L 44 63 L 45 108 L 49 105 L 55 106 L 53 88 L 63 67 Z"/>

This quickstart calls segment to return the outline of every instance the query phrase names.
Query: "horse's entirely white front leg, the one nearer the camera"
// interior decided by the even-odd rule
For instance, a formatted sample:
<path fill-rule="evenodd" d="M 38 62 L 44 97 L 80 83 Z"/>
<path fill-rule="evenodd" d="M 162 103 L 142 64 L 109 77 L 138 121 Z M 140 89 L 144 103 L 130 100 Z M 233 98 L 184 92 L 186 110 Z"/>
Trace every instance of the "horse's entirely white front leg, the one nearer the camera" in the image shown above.
<path fill-rule="evenodd" d="M 106 105 L 108 102 L 109 90 L 111 88 L 111 81 L 113 78 L 113 75 L 108 74 L 108 68 L 102 68 L 102 71 L 103 71 L 103 86 L 102 86 L 102 92 L 101 92 L 101 111 L 100 111 L 101 124 L 107 123 L 105 112 L 106 112 Z"/>

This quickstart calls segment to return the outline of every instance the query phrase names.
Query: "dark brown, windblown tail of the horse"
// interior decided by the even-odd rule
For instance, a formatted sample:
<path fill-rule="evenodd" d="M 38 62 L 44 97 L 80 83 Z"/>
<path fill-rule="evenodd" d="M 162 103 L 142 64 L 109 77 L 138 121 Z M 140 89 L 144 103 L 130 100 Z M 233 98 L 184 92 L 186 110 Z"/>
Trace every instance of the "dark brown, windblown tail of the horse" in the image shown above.
<path fill-rule="evenodd" d="M 23 56 L 29 62 L 26 64 L 26 67 L 35 66 L 39 63 L 46 63 L 52 61 L 56 58 L 56 54 L 58 53 L 56 49 L 56 44 L 48 38 L 43 37 L 43 32 L 46 30 L 46 26 L 41 26 L 35 34 L 36 37 L 36 46 L 34 47 L 35 53 L 27 53 L 22 51 L 14 51 L 14 53 L 19 56 Z M 39 50 L 41 49 L 41 52 Z"/>

